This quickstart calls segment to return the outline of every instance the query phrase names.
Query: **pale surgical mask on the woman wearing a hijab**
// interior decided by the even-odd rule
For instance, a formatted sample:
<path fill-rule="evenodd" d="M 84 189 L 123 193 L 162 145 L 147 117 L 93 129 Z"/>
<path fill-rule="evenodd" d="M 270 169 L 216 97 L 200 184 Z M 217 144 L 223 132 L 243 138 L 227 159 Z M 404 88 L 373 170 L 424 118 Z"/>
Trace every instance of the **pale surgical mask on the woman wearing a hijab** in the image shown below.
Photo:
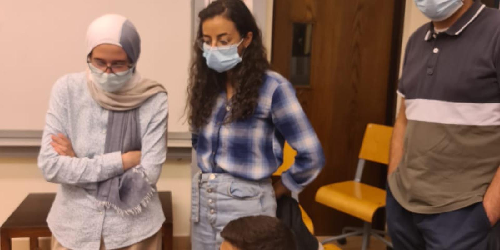
<path fill-rule="evenodd" d="M 102 70 L 93 66 L 91 63 L 89 63 L 88 65 L 92 67 L 92 70 L 90 70 L 90 72 L 92 74 L 93 81 L 98 83 L 102 89 L 108 92 L 120 90 L 120 88 L 122 88 L 130 80 L 133 74 L 133 67 L 123 72 L 104 73 Z"/>

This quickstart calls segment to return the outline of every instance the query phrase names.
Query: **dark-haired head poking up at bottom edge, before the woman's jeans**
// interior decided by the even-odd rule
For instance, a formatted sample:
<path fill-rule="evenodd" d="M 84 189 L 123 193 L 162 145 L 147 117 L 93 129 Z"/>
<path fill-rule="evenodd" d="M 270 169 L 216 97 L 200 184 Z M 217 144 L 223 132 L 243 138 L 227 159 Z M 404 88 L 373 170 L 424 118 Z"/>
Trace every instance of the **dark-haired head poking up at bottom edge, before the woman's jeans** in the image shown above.
<path fill-rule="evenodd" d="M 296 250 L 293 233 L 279 219 L 257 215 L 229 222 L 220 250 Z"/>

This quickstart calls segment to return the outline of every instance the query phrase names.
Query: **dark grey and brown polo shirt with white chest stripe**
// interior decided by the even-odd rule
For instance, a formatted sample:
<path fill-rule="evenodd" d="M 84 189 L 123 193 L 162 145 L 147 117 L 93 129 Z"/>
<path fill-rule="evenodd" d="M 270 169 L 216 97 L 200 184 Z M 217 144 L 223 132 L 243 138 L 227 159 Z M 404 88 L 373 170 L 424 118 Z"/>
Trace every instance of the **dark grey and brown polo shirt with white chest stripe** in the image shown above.
<path fill-rule="evenodd" d="M 410 37 L 398 94 L 408 123 L 389 176 L 396 200 L 416 213 L 482 201 L 500 165 L 500 11 L 480 0 L 446 31 L 432 22 Z"/>

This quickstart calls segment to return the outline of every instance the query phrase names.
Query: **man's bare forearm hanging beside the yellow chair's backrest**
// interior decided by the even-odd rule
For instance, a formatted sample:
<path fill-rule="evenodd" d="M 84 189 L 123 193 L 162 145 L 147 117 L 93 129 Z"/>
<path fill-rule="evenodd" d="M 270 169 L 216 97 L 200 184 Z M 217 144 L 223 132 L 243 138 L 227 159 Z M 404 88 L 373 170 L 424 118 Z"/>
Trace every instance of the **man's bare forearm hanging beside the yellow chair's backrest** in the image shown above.
<path fill-rule="evenodd" d="M 401 98 L 401 106 L 399 107 L 399 113 L 394 123 L 390 141 L 389 169 L 387 170 L 387 176 L 396 169 L 403 155 L 404 131 L 406 130 L 406 124 L 408 122 L 405 111 L 406 106 L 404 105 L 404 98 Z"/>

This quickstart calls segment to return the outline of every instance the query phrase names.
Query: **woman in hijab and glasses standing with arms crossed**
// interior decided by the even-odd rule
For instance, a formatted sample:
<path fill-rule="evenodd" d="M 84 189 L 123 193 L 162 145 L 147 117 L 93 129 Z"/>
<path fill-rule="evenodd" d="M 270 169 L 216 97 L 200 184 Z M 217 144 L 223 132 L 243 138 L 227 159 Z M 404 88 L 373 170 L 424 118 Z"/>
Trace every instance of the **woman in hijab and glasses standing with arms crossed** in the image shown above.
<path fill-rule="evenodd" d="M 38 157 L 60 184 L 47 218 L 52 249 L 160 249 L 166 91 L 136 69 L 140 38 L 125 17 L 95 19 L 86 44 L 86 71 L 52 88 Z"/>

